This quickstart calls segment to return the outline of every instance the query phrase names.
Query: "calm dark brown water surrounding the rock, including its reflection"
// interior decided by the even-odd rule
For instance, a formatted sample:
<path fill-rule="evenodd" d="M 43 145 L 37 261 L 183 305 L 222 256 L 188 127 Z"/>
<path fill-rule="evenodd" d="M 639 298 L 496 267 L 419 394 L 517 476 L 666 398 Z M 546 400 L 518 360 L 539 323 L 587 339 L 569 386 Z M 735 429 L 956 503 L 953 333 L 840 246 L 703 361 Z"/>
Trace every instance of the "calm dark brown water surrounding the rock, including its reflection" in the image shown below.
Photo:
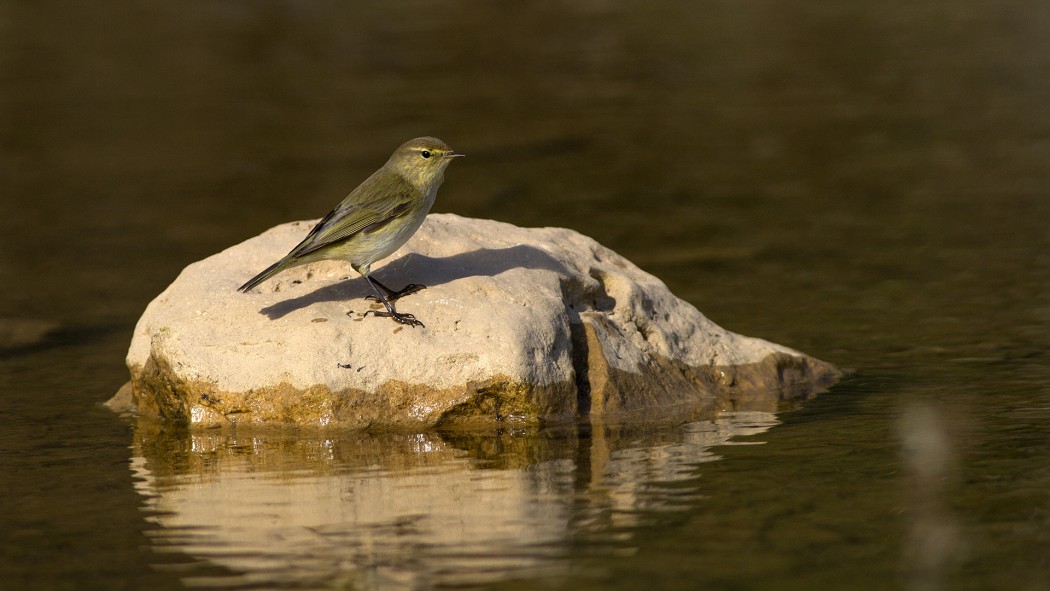
<path fill-rule="evenodd" d="M 1050 587 L 1050 5 L 0 3 L 0 588 Z M 855 373 L 777 414 L 180 432 L 187 263 L 403 140 Z"/>

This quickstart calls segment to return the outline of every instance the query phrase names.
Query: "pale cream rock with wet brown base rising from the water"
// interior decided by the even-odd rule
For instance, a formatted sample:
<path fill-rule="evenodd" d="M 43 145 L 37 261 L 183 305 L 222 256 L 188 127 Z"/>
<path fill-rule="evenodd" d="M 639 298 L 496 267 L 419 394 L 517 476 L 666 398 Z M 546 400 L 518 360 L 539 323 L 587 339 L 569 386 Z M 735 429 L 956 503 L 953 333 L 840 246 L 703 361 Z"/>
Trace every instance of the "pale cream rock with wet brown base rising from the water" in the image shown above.
<path fill-rule="evenodd" d="M 127 357 L 141 413 L 204 426 L 538 423 L 775 402 L 838 377 L 719 328 L 622 256 L 558 228 L 430 215 L 373 269 L 394 289 L 427 286 L 397 302 L 425 328 L 363 317 L 378 304 L 342 262 L 237 293 L 311 227 L 278 226 L 195 262 L 149 304 Z"/>

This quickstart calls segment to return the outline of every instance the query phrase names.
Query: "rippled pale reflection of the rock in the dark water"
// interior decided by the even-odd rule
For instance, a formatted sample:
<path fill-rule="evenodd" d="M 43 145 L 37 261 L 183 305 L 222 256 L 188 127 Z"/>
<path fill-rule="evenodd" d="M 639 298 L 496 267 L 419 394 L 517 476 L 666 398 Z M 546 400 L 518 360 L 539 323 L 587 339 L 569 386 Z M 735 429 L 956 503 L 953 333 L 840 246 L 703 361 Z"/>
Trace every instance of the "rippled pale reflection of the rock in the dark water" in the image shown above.
<path fill-rule="evenodd" d="M 144 421 L 132 469 L 158 549 L 208 567 L 189 584 L 426 589 L 558 576 L 580 534 L 629 545 L 625 527 L 695 502 L 713 446 L 774 423 L 230 434 Z"/>

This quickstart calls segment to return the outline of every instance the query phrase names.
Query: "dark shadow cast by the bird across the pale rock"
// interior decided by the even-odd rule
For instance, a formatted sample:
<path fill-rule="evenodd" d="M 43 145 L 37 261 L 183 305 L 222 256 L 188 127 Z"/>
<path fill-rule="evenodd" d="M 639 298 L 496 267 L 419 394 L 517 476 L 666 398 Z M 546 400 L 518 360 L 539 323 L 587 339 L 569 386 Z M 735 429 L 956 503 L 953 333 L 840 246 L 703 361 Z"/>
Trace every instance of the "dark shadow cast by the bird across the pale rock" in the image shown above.
<path fill-rule="evenodd" d="M 373 277 L 394 289 L 410 281 L 435 287 L 466 277 L 495 276 L 518 268 L 567 274 L 565 266 L 550 254 L 536 247 L 518 245 L 504 249 L 478 249 L 442 258 L 411 253 L 373 272 Z M 346 301 L 366 295 L 372 295 L 372 290 L 364 278 L 358 276 L 278 301 L 259 312 L 276 320 L 315 303 Z"/>

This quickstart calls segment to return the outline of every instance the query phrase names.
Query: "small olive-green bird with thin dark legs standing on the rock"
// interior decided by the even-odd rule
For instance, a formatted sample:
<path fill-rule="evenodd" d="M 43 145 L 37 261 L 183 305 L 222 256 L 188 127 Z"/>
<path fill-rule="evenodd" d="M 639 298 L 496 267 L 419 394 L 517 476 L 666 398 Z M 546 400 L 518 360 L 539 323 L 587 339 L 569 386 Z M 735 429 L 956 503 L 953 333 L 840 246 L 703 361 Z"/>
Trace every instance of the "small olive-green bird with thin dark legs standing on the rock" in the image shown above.
<path fill-rule="evenodd" d="M 401 324 L 422 326 L 423 323 L 412 314 L 394 310 L 394 301 L 426 289 L 426 286 L 411 283 L 394 291 L 373 277 L 371 268 L 373 262 L 401 248 L 419 230 L 434 206 L 438 187 L 445 180 L 445 167 L 462 155 L 437 138 L 416 138 L 401 144 L 386 164 L 318 221 L 299 246 L 237 291 L 247 292 L 292 267 L 343 259 L 349 260 L 354 271 L 372 287 L 376 295 L 369 298 L 386 308 L 386 312 L 369 312 L 393 318 Z"/>

